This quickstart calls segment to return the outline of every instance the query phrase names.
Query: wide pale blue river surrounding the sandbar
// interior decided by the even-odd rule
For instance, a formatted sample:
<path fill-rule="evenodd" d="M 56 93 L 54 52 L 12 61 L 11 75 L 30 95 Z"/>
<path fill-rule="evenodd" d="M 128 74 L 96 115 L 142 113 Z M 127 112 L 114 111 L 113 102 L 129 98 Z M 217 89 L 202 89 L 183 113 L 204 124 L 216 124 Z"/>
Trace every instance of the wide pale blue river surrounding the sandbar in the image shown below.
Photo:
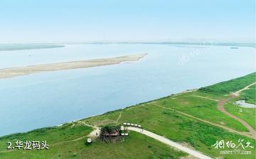
<path fill-rule="evenodd" d="M 55 126 L 255 72 L 255 48 L 86 44 L 0 51 L 0 68 L 148 53 L 137 62 L 0 79 L 0 136 Z"/>

